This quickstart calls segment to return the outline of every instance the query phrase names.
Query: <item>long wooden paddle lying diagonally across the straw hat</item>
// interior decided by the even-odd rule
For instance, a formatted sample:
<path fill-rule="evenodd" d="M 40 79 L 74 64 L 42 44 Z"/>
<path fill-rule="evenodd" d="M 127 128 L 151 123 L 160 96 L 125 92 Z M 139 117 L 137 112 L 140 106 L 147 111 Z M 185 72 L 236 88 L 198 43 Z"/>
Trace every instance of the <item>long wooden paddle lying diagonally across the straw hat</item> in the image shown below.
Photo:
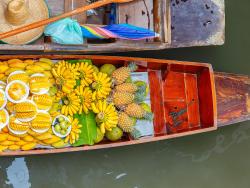
<path fill-rule="evenodd" d="M 50 24 L 52 22 L 58 21 L 58 20 L 60 20 L 62 18 L 74 16 L 76 14 L 83 13 L 83 12 L 85 12 L 87 10 L 95 9 L 95 8 L 98 8 L 98 7 L 101 7 L 101 6 L 110 4 L 110 3 L 127 3 L 127 2 L 130 2 L 130 1 L 133 1 L 133 0 L 101 0 L 101 1 L 97 1 L 95 3 L 91 3 L 90 5 L 77 8 L 75 10 L 72 10 L 70 12 L 66 12 L 66 13 L 61 14 L 59 16 L 49 18 L 49 19 L 45 19 L 45 20 L 41 20 L 41 21 L 38 21 L 38 22 L 34 22 L 32 24 L 25 25 L 23 27 L 20 27 L 20 28 L 17 28 L 17 29 L 14 29 L 14 30 L 11 30 L 11 31 L 8 31 L 8 32 L 5 32 L 5 33 L 1 33 L 0 34 L 0 39 L 11 37 L 11 36 L 17 35 L 19 33 L 29 31 L 29 30 L 32 30 L 32 29 L 35 29 L 35 28 L 38 28 L 38 27 L 42 27 L 44 25 L 48 25 L 48 24 Z"/>

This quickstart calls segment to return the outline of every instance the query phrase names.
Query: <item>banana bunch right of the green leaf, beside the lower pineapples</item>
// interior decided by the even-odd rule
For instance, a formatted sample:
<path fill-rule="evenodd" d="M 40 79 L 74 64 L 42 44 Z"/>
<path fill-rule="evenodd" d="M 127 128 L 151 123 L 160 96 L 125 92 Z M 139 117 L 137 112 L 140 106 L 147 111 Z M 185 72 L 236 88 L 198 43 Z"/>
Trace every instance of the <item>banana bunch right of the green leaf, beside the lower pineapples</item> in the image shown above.
<path fill-rule="evenodd" d="M 103 134 L 106 130 L 111 131 L 113 127 L 117 126 L 118 113 L 112 103 L 107 104 L 105 100 L 99 100 L 96 103 L 92 103 L 91 107 L 93 112 L 97 114 L 96 122 Z"/>

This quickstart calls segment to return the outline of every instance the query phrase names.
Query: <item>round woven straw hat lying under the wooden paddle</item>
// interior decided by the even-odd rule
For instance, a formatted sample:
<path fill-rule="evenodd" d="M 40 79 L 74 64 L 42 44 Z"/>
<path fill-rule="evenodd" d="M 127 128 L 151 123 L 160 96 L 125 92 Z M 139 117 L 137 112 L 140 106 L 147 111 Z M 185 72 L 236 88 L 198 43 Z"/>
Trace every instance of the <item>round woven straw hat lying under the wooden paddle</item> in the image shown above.
<path fill-rule="evenodd" d="M 49 18 L 44 0 L 0 0 L 0 33 Z M 44 27 L 2 39 L 9 44 L 27 44 L 38 39 Z"/>

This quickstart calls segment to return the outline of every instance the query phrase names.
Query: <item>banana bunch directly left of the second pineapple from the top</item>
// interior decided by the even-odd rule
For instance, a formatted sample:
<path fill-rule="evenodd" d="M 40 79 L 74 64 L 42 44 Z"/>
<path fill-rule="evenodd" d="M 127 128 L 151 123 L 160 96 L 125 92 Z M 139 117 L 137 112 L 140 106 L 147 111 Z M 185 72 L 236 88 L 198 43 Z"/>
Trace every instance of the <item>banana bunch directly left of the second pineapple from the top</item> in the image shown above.
<path fill-rule="evenodd" d="M 92 100 L 105 99 L 111 91 L 111 79 L 106 73 L 94 72 L 94 82 L 92 83 Z"/>

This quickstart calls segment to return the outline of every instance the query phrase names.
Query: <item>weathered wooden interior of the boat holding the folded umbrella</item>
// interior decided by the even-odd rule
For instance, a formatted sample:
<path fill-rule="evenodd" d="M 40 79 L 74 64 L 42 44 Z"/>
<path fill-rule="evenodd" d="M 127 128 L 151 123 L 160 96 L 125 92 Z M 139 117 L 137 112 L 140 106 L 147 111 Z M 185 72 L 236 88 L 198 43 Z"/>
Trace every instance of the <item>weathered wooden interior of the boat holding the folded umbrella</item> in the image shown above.
<path fill-rule="evenodd" d="M 50 17 L 93 3 L 95 0 L 47 0 Z M 83 45 L 59 45 L 53 43 L 50 37 L 43 36 L 28 45 L 3 44 L 2 49 L 31 50 L 31 51 L 105 51 L 105 49 L 142 49 L 149 46 L 155 48 L 160 43 L 170 43 L 170 3 L 160 0 L 138 0 L 125 4 L 110 4 L 89 12 L 85 12 L 72 19 L 80 25 L 104 26 L 107 24 L 128 23 L 159 34 L 155 39 L 128 41 L 121 39 L 85 39 Z M 151 46 L 151 47 L 150 47 Z M 86 49 L 88 48 L 88 49 Z"/>

